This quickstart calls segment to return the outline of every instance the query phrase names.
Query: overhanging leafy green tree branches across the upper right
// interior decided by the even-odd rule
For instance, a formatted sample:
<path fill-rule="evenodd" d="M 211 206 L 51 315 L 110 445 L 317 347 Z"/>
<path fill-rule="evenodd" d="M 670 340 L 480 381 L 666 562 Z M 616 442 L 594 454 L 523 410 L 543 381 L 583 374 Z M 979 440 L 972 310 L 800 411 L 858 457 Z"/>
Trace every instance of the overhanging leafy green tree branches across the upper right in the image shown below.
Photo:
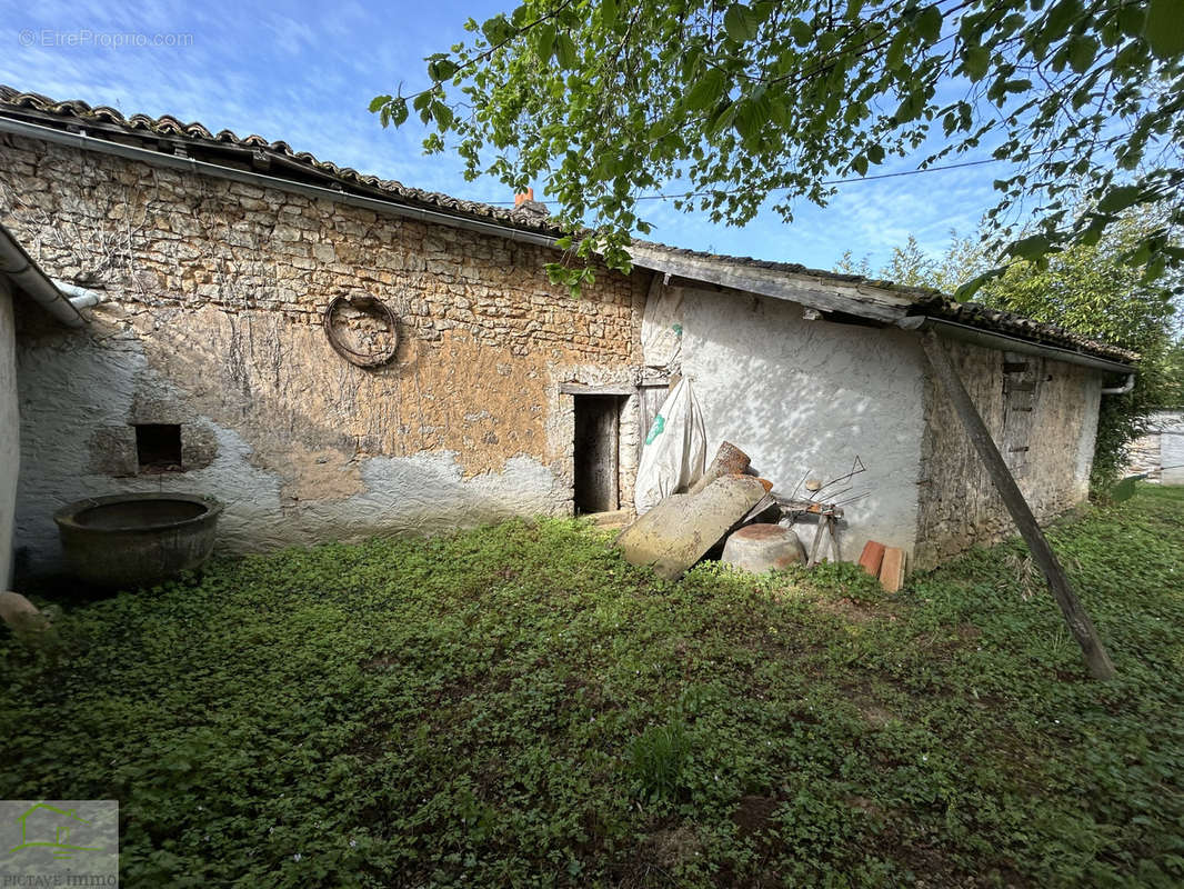
<path fill-rule="evenodd" d="M 989 212 L 1010 257 L 1096 244 L 1156 205 L 1162 224 L 1122 258 L 1148 279 L 1184 264 L 1182 0 L 526 0 L 468 28 L 427 57 L 426 89 L 371 110 L 384 126 L 417 114 L 429 152 L 455 137 L 470 178 L 543 179 L 558 222 L 591 226 L 586 261 L 629 268 L 648 192 L 736 225 L 772 198 L 790 220 L 829 179 L 937 135 L 920 168 L 1011 164 Z M 549 270 L 577 288 L 591 274 Z"/>

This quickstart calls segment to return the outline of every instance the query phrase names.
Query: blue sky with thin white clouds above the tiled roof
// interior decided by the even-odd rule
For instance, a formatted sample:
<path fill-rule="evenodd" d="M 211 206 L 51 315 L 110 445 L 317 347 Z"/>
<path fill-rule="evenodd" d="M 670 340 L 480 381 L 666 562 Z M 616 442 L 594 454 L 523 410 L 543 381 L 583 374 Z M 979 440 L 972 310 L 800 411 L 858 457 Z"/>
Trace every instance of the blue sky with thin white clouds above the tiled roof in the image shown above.
<path fill-rule="evenodd" d="M 423 57 L 463 39 L 470 15 L 483 20 L 510 8 L 510 0 L 0 0 L 0 83 L 124 114 L 172 114 L 215 132 L 283 139 L 296 151 L 406 185 L 507 200 L 494 179 L 464 181 L 453 155 L 424 156 L 418 122 L 384 130 L 366 105 L 400 81 L 405 91 L 424 85 Z M 129 41 L 127 34 L 148 41 L 159 34 L 166 45 L 118 45 Z M 896 161 L 875 172 L 910 166 Z M 850 249 L 879 267 L 910 234 L 940 254 L 951 229 L 971 232 L 995 203 L 991 181 L 1000 167 L 844 185 L 826 209 L 799 205 L 792 224 L 768 211 L 742 229 L 718 226 L 662 202 L 646 202 L 643 215 L 656 226 L 652 239 L 678 247 L 816 268 L 831 268 Z"/>

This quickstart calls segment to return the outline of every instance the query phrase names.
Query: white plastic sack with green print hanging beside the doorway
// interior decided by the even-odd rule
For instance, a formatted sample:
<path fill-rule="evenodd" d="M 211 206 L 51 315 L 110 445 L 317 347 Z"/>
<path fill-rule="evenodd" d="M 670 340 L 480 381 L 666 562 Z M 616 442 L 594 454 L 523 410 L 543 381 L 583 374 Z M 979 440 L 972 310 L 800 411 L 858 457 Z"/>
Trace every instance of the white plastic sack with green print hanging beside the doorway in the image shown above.
<path fill-rule="evenodd" d="M 707 462 L 707 429 L 703 412 L 683 379 L 662 403 L 642 449 L 633 504 L 637 514 L 654 509 L 663 497 L 693 485 Z"/>

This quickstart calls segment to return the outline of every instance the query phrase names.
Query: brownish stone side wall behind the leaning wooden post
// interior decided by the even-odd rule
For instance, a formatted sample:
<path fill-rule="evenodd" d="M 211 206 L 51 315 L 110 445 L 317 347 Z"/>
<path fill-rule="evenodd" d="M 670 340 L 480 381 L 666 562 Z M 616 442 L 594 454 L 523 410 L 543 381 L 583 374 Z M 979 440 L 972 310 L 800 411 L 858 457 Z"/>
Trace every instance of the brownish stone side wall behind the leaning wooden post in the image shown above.
<path fill-rule="evenodd" d="M 951 357 L 991 436 L 1006 450 L 1004 353 L 946 341 Z M 1038 520 L 1047 520 L 1089 494 L 1089 469 L 1098 434 L 1101 378 L 1085 367 L 1030 356 L 1035 369 L 1025 469 L 1016 479 Z M 1014 535 L 1015 524 L 934 379 L 925 386 L 920 516 L 915 564 L 929 568 L 969 549 Z M 1011 459 L 1004 453 L 1005 459 Z"/>

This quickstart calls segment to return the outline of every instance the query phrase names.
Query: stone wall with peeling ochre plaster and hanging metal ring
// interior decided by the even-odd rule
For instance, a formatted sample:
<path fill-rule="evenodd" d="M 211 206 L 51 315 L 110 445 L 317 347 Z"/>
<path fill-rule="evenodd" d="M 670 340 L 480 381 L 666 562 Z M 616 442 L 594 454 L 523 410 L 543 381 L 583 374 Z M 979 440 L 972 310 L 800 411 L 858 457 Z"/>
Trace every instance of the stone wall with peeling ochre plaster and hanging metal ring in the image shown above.
<path fill-rule="evenodd" d="M 231 549 L 565 513 L 560 386 L 637 376 L 649 281 L 604 271 L 572 300 L 541 247 L 15 136 L 0 220 L 52 277 L 109 296 L 83 332 L 24 319 L 17 536 L 34 569 L 57 506 L 118 491 L 225 500 Z M 322 330 L 356 294 L 399 319 L 378 370 Z M 181 427 L 184 472 L 137 472 L 137 423 Z"/>

